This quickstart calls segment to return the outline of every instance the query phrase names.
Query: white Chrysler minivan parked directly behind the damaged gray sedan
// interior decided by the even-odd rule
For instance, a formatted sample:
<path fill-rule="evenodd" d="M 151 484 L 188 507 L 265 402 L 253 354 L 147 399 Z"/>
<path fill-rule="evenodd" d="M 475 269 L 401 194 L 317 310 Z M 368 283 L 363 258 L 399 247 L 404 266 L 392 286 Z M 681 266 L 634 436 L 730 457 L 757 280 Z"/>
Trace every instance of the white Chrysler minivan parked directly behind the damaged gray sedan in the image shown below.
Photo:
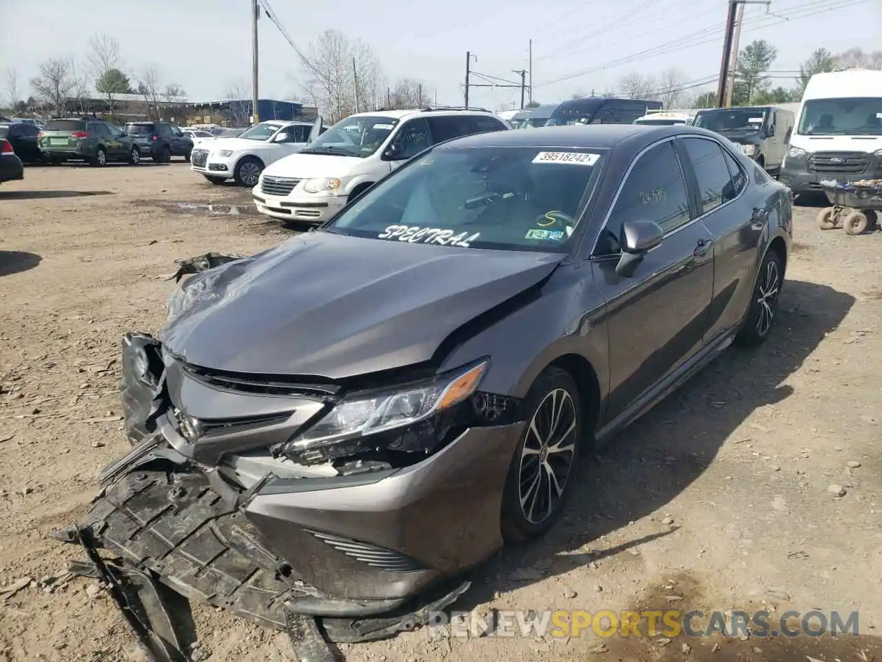
<path fill-rule="evenodd" d="M 297 154 L 266 168 L 254 187 L 258 211 L 322 223 L 423 149 L 471 133 L 509 127 L 486 110 L 375 110 L 351 115 Z"/>

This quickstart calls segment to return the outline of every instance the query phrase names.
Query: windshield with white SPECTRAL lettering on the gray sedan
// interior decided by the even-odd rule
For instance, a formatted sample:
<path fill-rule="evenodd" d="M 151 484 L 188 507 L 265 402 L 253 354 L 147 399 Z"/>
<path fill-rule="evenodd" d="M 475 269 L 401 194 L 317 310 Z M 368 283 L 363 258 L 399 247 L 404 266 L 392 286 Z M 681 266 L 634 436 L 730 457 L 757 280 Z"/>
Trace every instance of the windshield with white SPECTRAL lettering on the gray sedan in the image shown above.
<path fill-rule="evenodd" d="M 345 208 L 324 231 L 412 244 L 564 252 L 594 189 L 600 151 L 447 147 Z"/>

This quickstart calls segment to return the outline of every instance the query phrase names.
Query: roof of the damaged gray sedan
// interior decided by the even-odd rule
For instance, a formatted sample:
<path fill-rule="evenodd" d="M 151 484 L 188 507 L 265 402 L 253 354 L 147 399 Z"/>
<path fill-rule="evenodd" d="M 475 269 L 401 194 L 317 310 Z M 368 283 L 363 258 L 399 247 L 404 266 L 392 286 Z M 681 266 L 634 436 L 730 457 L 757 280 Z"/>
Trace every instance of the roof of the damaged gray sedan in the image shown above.
<path fill-rule="evenodd" d="M 475 133 L 442 144 L 451 147 L 559 147 L 612 149 L 624 143 L 642 148 L 674 135 L 710 136 L 717 134 L 691 126 L 649 124 L 588 124 L 581 126 L 542 126 L 533 131 L 495 131 Z"/>

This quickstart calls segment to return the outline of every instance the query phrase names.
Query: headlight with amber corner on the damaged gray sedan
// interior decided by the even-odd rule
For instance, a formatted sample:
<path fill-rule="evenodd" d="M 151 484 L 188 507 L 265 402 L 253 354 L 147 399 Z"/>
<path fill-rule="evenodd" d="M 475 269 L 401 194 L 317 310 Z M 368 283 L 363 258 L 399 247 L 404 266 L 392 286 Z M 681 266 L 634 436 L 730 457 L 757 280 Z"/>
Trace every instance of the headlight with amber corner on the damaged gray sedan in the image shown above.
<path fill-rule="evenodd" d="M 473 395 L 488 365 L 485 359 L 431 381 L 344 397 L 324 418 L 289 441 L 283 452 L 302 453 L 433 417 Z"/>

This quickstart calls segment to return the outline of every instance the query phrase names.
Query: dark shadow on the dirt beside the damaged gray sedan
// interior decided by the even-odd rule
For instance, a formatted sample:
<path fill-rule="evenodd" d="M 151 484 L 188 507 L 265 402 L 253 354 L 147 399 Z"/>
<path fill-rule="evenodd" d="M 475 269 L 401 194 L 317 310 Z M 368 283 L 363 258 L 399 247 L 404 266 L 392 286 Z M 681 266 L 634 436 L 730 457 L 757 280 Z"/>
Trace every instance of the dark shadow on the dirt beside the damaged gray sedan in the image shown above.
<path fill-rule="evenodd" d="M 477 568 L 472 589 L 453 608 L 472 609 L 496 591 L 636 552 L 639 545 L 669 535 L 672 527 L 660 524 L 657 533 L 615 546 L 602 540 L 664 508 L 699 478 L 753 411 L 789 397 L 793 389 L 783 382 L 854 303 L 854 297 L 826 285 L 785 282 L 777 327 L 765 345 L 726 350 L 606 448 L 583 455 L 561 520 L 543 538 L 508 545 Z M 599 550 L 578 553 L 591 543 Z"/>

